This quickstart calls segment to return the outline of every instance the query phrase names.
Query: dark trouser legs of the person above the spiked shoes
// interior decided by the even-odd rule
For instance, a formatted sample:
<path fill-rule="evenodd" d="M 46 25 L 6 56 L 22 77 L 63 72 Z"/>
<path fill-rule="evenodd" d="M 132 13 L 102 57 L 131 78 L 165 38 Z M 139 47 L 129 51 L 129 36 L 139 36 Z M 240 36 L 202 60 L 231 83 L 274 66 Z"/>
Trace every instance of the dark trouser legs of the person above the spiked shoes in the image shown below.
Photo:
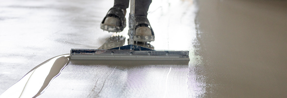
<path fill-rule="evenodd" d="M 152 0 L 135 0 L 135 16 L 147 16 L 150 3 Z M 129 0 L 115 0 L 114 7 L 127 9 Z"/>

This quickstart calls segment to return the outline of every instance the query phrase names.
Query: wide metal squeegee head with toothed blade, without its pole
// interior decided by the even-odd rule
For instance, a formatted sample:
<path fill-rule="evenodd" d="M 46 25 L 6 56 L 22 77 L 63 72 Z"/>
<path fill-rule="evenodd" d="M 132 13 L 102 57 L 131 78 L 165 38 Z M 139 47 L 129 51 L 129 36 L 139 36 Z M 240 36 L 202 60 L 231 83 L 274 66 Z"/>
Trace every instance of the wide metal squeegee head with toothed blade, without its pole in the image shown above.
<path fill-rule="evenodd" d="M 71 59 L 128 59 L 128 60 L 189 60 L 189 51 L 176 50 L 148 50 L 135 45 L 135 50 L 128 50 L 131 46 L 121 46 L 112 49 L 71 49 Z M 140 48 L 140 49 L 138 49 Z"/>

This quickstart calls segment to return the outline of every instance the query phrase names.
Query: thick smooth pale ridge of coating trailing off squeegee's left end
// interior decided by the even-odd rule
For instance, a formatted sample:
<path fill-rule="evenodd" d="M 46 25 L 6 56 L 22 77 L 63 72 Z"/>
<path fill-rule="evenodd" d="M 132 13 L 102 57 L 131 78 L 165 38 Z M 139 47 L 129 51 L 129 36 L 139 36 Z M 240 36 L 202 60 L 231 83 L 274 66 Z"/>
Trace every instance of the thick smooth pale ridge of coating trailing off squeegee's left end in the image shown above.
<path fill-rule="evenodd" d="M 60 74 L 60 71 L 69 61 L 69 55 L 51 58 L 33 68 L 20 81 L 15 83 L 3 94 L 1 98 L 32 98 L 49 85 L 50 81 Z"/>

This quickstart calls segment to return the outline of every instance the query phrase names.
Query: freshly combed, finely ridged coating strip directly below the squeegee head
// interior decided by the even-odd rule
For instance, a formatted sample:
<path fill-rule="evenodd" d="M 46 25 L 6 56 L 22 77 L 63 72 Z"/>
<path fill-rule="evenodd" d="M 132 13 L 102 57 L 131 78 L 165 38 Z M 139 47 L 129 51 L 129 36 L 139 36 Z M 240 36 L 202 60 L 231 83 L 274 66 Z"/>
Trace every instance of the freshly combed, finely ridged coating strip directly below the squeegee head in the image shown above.
<path fill-rule="evenodd" d="M 71 60 L 37 98 L 188 97 L 187 60 Z"/>

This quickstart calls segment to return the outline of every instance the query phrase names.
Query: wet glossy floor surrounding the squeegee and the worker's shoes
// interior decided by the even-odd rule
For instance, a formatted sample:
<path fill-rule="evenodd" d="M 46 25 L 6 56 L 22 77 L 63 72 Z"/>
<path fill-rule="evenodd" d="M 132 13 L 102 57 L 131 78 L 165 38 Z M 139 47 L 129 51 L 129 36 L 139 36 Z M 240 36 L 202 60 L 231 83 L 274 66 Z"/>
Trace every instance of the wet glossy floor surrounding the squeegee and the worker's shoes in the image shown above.
<path fill-rule="evenodd" d="M 38 64 L 67 54 L 71 48 L 106 49 L 126 45 L 127 39 L 115 40 L 110 38 L 112 33 L 100 29 L 102 18 L 112 6 L 112 0 L 1 1 L 0 93 Z M 155 50 L 189 50 L 187 64 L 153 66 L 161 62 L 142 62 L 131 66 L 135 63 L 114 61 L 116 64 L 103 62 L 105 66 L 87 66 L 88 63 L 74 61 L 63 68 L 63 73 L 55 77 L 51 87 L 39 97 L 51 97 L 51 91 L 69 79 L 71 85 L 86 87 L 65 84 L 66 93 L 82 88 L 88 90 L 82 93 L 90 97 L 111 97 L 104 95 L 111 92 L 119 97 L 144 97 L 143 94 L 153 97 L 164 97 L 164 94 L 169 97 L 286 97 L 286 10 L 286 1 L 154 0 L 148 18 L 155 41 L 144 45 Z M 127 30 L 113 35 L 128 38 Z M 83 71 L 87 73 L 81 75 L 89 74 L 86 78 L 69 76 Z M 119 83 L 121 87 L 99 82 L 97 85 L 104 87 L 99 89 L 96 84 L 85 84 L 94 83 L 96 80 L 85 80 L 93 80 L 97 75 L 102 75 L 97 81 L 108 79 L 107 84 Z M 146 78 L 139 79 L 142 77 Z M 126 83 L 139 84 L 125 87 L 128 85 L 123 82 L 145 79 L 151 80 L 144 82 L 149 85 L 132 81 Z M 166 84 L 155 85 L 160 83 L 158 81 L 166 81 Z M 144 87 L 139 87 L 141 85 Z M 159 88 L 165 91 L 155 90 Z"/>

